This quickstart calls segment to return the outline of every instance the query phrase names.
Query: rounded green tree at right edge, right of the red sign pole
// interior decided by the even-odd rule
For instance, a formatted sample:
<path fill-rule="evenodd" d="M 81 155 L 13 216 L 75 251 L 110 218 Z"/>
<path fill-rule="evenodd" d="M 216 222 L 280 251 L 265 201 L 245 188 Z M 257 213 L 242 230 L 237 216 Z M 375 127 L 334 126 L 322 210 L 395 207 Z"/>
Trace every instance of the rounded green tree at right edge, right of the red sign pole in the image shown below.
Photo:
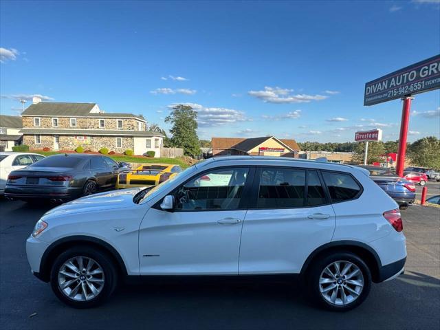
<path fill-rule="evenodd" d="M 434 136 L 423 137 L 408 148 L 412 164 L 440 170 L 440 140 Z"/>

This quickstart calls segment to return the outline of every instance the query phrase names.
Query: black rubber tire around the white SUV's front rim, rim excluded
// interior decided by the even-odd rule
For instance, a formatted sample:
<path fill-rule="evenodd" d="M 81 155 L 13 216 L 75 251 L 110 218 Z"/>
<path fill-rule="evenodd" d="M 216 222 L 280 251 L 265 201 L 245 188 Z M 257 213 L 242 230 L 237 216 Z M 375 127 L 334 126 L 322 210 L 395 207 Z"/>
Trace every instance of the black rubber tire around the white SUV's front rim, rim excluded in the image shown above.
<path fill-rule="evenodd" d="M 58 284 L 58 272 L 60 272 L 63 264 L 69 259 L 77 256 L 83 256 L 93 259 L 94 261 L 96 261 L 96 263 L 100 265 L 104 272 L 104 285 L 102 287 L 102 290 L 95 298 L 92 298 L 90 300 L 78 301 L 74 300 L 73 298 L 69 298 L 63 293 L 60 285 Z M 115 269 L 115 265 L 113 265 L 111 257 L 109 257 L 106 253 L 101 252 L 100 250 L 95 250 L 94 248 L 88 246 L 69 248 L 68 250 L 62 252 L 55 259 L 50 272 L 50 285 L 52 287 L 52 291 L 57 296 L 57 298 L 66 305 L 80 309 L 96 307 L 104 303 L 114 292 L 117 283 L 118 272 Z"/>

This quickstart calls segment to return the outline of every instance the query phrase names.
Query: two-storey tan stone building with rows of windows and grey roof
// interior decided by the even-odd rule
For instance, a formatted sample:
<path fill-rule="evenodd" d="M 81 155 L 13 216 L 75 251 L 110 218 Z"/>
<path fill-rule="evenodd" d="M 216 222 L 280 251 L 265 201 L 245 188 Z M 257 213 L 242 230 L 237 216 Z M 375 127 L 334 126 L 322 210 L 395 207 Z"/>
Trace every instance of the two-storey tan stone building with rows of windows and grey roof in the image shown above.
<path fill-rule="evenodd" d="M 146 120 L 132 113 L 105 113 L 96 103 L 41 102 L 22 113 L 23 144 L 31 149 L 99 151 L 115 153 L 131 149 L 135 155 L 155 151 L 160 157 L 163 135 L 146 131 Z"/>

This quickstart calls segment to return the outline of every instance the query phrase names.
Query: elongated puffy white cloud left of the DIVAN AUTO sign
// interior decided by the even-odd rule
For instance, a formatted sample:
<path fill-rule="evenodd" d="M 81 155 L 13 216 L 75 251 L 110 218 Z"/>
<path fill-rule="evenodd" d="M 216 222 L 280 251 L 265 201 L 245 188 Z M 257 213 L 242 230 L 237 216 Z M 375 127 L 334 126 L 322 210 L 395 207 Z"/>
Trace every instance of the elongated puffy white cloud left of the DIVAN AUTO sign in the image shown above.
<path fill-rule="evenodd" d="M 283 89 L 280 87 L 264 87 L 263 91 L 248 91 L 250 96 L 259 98 L 263 102 L 270 103 L 303 103 L 311 101 L 325 100 L 327 96 L 296 94 L 290 95 L 293 89 Z"/>

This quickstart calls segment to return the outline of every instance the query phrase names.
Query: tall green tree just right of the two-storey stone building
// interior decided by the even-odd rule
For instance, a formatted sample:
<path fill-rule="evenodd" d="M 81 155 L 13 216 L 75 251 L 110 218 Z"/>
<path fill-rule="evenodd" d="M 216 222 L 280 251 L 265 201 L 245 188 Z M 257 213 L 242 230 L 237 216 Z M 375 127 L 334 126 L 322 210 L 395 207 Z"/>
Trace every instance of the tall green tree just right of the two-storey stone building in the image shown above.
<path fill-rule="evenodd" d="M 189 105 L 178 104 L 173 107 L 165 122 L 172 124 L 170 145 L 184 148 L 184 154 L 196 157 L 200 154 L 199 137 L 197 137 L 197 111 Z"/>

